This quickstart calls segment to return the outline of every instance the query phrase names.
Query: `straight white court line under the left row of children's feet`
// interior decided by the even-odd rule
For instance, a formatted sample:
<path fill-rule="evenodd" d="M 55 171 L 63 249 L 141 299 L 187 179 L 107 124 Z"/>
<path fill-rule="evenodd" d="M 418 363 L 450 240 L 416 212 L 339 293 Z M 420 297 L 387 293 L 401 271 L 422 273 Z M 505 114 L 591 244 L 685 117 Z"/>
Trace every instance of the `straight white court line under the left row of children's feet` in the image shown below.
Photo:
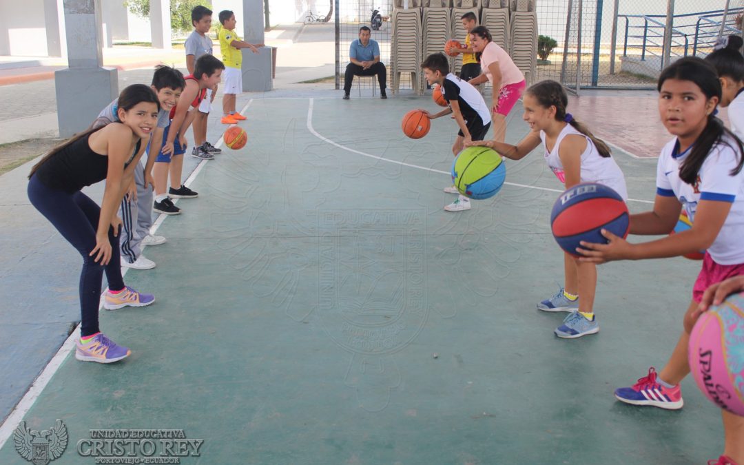
<path fill-rule="evenodd" d="M 251 106 L 251 102 L 253 99 L 248 100 L 248 103 L 246 103 L 246 106 L 243 107 L 240 112 L 245 112 L 248 109 L 248 106 Z M 219 147 L 222 145 L 222 137 L 219 138 L 217 141 L 217 144 L 214 145 L 214 147 Z M 186 154 L 184 154 L 186 155 Z M 208 160 L 202 160 L 199 161 L 199 164 L 196 165 L 196 168 L 191 172 L 191 175 L 186 179 L 186 182 L 184 185 L 187 187 L 193 182 L 194 179 L 196 179 L 196 176 L 199 174 L 199 172 L 204 167 L 204 164 Z M 178 199 L 176 199 L 178 200 Z M 155 234 L 155 231 L 158 231 L 158 228 L 163 223 L 165 217 L 168 215 L 160 214 L 157 219 L 155 219 L 155 222 L 153 223 L 153 227 L 150 228 L 150 233 Z M 147 247 L 147 246 L 143 246 Z M 126 275 L 126 271 L 128 268 L 125 268 L 124 266 L 121 267 L 121 276 L 122 278 L 124 275 Z M 103 299 L 103 293 L 101 293 L 101 298 Z M 98 307 L 98 311 L 100 312 L 100 307 Z M 60 347 L 60 350 L 57 350 L 57 353 L 54 354 L 54 356 L 51 358 L 49 363 L 44 367 L 42 372 L 39 374 L 39 376 L 36 376 L 36 379 L 33 380 L 31 383 L 31 387 L 28 388 L 28 391 L 26 391 L 26 394 L 22 397 L 22 399 L 19 401 L 19 403 L 16 405 L 15 408 L 13 408 L 13 411 L 10 411 L 10 414 L 7 416 L 5 421 L 0 426 L 0 449 L 2 449 L 2 446 L 6 443 L 6 441 L 10 438 L 10 436 L 13 435 L 13 431 L 18 427 L 19 423 L 21 423 L 21 420 L 23 420 L 23 417 L 25 417 L 25 414 L 28 413 L 28 411 L 31 409 L 34 403 L 36 403 L 36 399 L 39 398 L 39 395 L 42 394 L 42 391 L 44 391 L 44 388 L 46 385 L 49 384 L 49 381 L 51 380 L 52 376 L 54 376 L 54 373 L 57 373 L 57 370 L 60 369 L 60 366 L 62 365 L 62 362 L 67 359 L 68 355 L 74 350 L 75 348 L 75 341 L 76 338 L 80 337 L 80 324 L 75 327 L 75 329 L 72 331 L 70 336 L 68 336 L 67 339 L 62 343 L 62 347 Z"/>

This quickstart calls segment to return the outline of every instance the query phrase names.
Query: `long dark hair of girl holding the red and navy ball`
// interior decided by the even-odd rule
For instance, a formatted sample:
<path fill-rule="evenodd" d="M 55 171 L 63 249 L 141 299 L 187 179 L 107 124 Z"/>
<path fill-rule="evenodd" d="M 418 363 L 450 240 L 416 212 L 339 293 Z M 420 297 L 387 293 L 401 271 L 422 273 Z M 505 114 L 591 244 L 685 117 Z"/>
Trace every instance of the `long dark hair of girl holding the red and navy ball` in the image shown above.
<path fill-rule="evenodd" d="M 661 76 L 658 78 L 657 89 L 659 92 L 661 92 L 661 86 L 667 79 L 690 81 L 700 88 L 708 100 L 713 97 L 718 97 L 718 100 L 721 100 L 721 81 L 718 79 L 716 68 L 713 68 L 710 62 L 702 60 L 702 58 L 680 58 L 667 66 L 667 68 L 664 68 L 664 71 L 661 71 Z M 726 129 L 723 122 L 716 118 L 713 113 L 711 112 L 708 115 L 708 124 L 705 125 L 702 134 L 695 141 L 690 155 L 684 158 L 682 166 L 679 167 L 679 178 L 689 185 L 695 185 L 700 168 L 705 163 L 705 158 L 708 158 L 708 154 L 711 153 L 711 150 L 717 144 L 728 145 L 734 152 L 737 152 L 738 148 L 739 164 L 731 170 L 731 176 L 740 173 L 744 165 L 744 146 L 742 145 L 742 141 L 737 138 L 734 132 Z M 730 142 L 725 138 L 731 138 L 737 147 L 732 147 Z"/>

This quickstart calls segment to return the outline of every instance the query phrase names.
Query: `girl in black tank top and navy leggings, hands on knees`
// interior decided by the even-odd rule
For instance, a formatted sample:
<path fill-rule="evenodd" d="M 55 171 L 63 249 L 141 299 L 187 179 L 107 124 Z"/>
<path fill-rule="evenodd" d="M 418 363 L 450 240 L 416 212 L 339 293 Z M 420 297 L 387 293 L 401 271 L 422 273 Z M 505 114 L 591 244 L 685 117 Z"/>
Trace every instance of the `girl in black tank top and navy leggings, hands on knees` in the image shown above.
<path fill-rule="evenodd" d="M 129 356 L 127 347 L 100 333 L 98 306 L 103 272 L 109 282 L 103 306 L 143 307 L 153 295 L 136 292 L 121 278 L 116 216 L 134 170 L 155 129 L 160 104 L 150 86 L 135 84 L 121 92 L 118 117 L 112 123 L 89 129 L 52 149 L 28 176 L 31 204 L 60 231 L 83 256 L 80 275 L 80 339 L 75 358 L 110 363 Z M 80 190 L 106 179 L 99 207 Z"/>

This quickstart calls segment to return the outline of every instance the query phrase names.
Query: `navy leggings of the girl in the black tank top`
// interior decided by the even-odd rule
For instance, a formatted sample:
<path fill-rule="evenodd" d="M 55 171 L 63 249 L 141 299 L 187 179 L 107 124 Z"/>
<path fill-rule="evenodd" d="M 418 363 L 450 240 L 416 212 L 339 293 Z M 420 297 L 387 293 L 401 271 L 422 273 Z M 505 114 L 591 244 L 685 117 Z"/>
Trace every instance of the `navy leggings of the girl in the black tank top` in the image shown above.
<path fill-rule="evenodd" d="M 47 187 L 32 176 L 28 182 L 28 199 L 36 210 L 60 231 L 68 243 L 83 255 L 83 272 L 80 273 L 80 336 L 98 332 L 98 307 L 100 304 L 103 272 L 109 280 L 109 289 L 124 289 L 119 259 L 119 240 L 114 237 L 114 228 L 109 227 L 111 260 L 106 266 L 89 257 L 95 248 L 95 233 L 98 228 L 100 207 L 89 196 L 79 190 L 66 193 Z"/>

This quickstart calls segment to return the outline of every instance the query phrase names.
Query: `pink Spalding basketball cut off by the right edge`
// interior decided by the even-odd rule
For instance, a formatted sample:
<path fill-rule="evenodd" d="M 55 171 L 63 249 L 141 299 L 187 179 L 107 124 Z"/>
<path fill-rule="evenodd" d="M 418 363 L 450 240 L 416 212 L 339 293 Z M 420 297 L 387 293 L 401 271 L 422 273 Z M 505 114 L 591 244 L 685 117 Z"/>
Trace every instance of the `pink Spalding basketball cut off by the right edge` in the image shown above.
<path fill-rule="evenodd" d="M 700 315 L 687 348 L 700 391 L 720 408 L 744 417 L 744 292 Z"/>

